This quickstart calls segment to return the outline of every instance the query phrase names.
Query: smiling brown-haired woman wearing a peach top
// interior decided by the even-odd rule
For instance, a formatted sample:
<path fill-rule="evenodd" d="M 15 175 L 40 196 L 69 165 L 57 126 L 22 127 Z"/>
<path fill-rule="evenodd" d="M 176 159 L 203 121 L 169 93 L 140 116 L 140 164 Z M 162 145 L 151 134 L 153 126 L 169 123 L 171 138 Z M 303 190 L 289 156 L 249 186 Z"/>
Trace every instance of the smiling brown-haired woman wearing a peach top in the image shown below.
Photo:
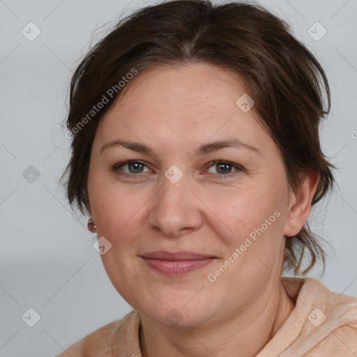
<path fill-rule="evenodd" d="M 357 299 L 281 278 L 324 262 L 305 222 L 333 185 L 329 107 L 264 8 L 165 1 L 119 22 L 73 76 L 66 187 L 133 310 L 59 356 L 357 355 Z"/>

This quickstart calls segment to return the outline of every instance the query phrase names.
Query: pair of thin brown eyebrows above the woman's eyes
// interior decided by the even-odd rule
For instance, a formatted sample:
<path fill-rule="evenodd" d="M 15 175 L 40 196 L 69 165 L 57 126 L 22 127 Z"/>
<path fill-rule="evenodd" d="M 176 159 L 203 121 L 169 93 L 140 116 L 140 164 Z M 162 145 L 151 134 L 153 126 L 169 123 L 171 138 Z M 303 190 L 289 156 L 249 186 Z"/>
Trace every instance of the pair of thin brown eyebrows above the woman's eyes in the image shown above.
<path fill-rule="evenodd" d="M 146 146 L 145 144 L 139 142 L 131 142 L 130 140 L 121 140 L 121 139 L 116 139 L 116 140 L 112 140 L 111 142 L 107 142 L 100 148 L 99 152 L 102 153 L 102 151 L 104 151 L 105 149 L 109 149 L 110 147 L 115 147 L 115 146 L 123 146 L 126 149 L 136 151 L 137 153 L 145 153 L 148 155 L 156 156 L 153 150 L 149 148 L 149 146 Z M 255 146 L 252 146 L 246 142 L 242 142 L 241 140 L 238 139 L 226 139 L 226 140 L 219 140 L 216 142 L 209 142 L 207 144 L 202 144 L 197 149 L 195 149 L 193 155 L 194 156 L 205 155 L 207 153 L 211 153 L 213 151 L 218 151 L 220 149 L 229 148 L 229 147 L 236 148 L 236 149 L 246 149 L 260 154 L 260 151 Z"/>

